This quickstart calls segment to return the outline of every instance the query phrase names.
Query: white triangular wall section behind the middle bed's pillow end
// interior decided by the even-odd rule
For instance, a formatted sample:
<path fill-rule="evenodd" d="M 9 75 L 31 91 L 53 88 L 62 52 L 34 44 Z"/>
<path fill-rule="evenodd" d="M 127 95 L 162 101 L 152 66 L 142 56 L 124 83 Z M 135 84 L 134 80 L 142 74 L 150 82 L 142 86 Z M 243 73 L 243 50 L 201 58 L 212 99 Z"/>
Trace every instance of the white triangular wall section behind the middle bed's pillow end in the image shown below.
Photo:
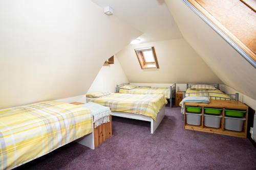
<path fill-rule="evenodd" d="M 116 57 L 114 64 L 104 64 L 96 78 L 94 79 L 87 93 L 95 91 L 115 92 L 116 85 L 127 83 L 128 80 L 123 72 L 123 69 Z"/>

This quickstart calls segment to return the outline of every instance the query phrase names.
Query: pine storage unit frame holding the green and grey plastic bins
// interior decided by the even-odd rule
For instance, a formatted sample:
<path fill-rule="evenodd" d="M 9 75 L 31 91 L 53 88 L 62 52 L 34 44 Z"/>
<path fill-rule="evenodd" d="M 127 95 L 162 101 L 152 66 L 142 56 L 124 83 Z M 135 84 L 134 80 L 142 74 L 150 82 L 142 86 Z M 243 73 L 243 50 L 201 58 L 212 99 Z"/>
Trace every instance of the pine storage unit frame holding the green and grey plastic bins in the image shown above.
<path fill-rule="evenodd" d="M 195 130 L 201 132 L 208 132 L 208 133 L 216 133 L 222 135 L 229 135 L 229 136 L 237 136 L 237 137 L 247 137 L 247 123 L 248 123 L 248 106 L 239 102 L 239 101 L 223 101 L 223 100 L 210 100 L 210 103 L 184 103 L 184 109 L 186 106 L 195 106 L 195 107 L 202 107 L 202 116 L 201 116 L 201 125 L 188 125 L 186 124 L 186 114 L 184 114 L 184 129 L 188 130 Z M 221 119 L 221 126 L 220 128 L 210 128 L 204 126 L 204 107 L 210 108 L 222 108 L 222 119 Z M 225 123 L 225 111 L 224 109 L 238 109 L 238 110 L 246 110 L 246 114 L 244 118 L 243 130 L 242 132 L 237 131 L 230 131 L 224 129 Z"/>

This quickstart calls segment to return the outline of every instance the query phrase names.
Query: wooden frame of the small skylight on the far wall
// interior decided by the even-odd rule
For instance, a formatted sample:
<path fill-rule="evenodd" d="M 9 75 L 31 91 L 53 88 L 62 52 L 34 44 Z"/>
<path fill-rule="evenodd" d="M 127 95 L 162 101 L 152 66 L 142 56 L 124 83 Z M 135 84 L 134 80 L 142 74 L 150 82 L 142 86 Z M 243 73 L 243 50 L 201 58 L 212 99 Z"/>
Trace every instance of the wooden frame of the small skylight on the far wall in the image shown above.
<path fill-rule="evenodd" d="M 143 52 L 147 52 L 147 51 L 151 51 L 153 58 L 154 58 L 154 62 L 146 62 L 145 57 L 143 55 Z M 151 46 L 151 47 L 145 47 L 145 48 L 137 48 L 135 49 L 135 53 L 136 56 L 138 58 L 139 64 L 141 69 L 144 68 L 159 68 L 159 64 L 158 64 L 158 60 L 157 60 L 157 56 L 156 56 L 156 51 L 155 51 L 155 47 Z M 155 65 L 154 67 L 152 67 L 152 65 Z"/>

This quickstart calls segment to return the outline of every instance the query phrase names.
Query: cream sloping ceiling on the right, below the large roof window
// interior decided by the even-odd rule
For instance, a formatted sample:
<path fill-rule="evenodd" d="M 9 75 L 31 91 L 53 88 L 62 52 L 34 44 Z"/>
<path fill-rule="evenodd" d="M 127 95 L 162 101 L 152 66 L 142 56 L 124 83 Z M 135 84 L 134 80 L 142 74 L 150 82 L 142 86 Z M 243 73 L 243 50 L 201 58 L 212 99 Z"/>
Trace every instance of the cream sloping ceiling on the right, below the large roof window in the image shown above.
<path fill-rule="evenodd" d="M 221 81 L 256 99 L 256 69 L 181 0 L 165 0 L 183 37 Z"/>

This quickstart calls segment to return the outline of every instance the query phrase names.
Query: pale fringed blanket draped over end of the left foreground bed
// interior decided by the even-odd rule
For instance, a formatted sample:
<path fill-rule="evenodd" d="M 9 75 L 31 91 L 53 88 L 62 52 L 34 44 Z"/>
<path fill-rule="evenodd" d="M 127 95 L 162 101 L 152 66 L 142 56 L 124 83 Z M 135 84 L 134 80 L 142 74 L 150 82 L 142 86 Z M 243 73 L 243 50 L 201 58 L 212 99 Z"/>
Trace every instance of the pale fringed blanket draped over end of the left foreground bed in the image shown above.
<path fill-rule="evenodd" d="M 111 110 L 109 107 L 105 107 L 93 102 L 89 102 L 80 106 L 91 110 L 93 114 L 93 123 L 95 124 L 95 128 L 104 123 L 110 122 Z"/>

